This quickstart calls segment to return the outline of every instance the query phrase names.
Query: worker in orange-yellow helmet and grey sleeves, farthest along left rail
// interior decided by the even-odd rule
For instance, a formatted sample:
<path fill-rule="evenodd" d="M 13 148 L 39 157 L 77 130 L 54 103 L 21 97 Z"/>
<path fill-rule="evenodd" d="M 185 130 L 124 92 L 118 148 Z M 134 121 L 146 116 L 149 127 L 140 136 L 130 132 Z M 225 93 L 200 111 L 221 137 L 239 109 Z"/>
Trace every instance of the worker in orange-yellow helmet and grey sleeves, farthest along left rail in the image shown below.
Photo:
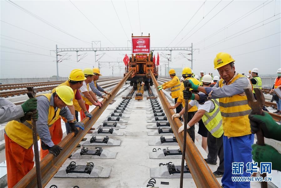
<path fill-rule="evenodd" d="M 91 90 L 98 95 L 98 97 L 102 97 L 103 99 L 106 98 L 107 100 L 109 99 L 109 97 L 107 95 L 111 96 L 110 92 L 105 91 L 101 86 L 98 85 L 97 80 L 99 79 L 99 76 L 103 76 L 100 73 L 99 68 L 93 68 L 93 73 L 95 76 L 93 76 L 93 81 L 89 83 L 89 86 L 91 88 Z M 101 92 L 107 94 L 107 95 L 103 95 Z"/>

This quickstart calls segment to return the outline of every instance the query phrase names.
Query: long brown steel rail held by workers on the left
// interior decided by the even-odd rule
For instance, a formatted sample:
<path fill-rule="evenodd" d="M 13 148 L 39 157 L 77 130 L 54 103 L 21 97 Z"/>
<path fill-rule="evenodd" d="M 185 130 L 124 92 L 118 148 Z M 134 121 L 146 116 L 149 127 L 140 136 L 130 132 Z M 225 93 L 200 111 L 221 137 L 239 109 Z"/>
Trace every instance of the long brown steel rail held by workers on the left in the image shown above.
<path fill-rule="evenodd" d="M 85 129 L 83 131 L 79 131 L 79 133 L 74 137 L 74 133 L 69 133 L 63 140 L 58 144 L 63 150 L 60 154 L 55 157 L 53 154 L 47 154 L 46 157 L 40 161 L 41 174 L 42 174 L 42 186 L 45 187 L 48 182 L 52 179 L 52 177 L 57 173 L 59 168 L 63 165 L 64 161 L 68 159 L 68 156 L 76 149 L 77 144 L 84 138 L 93 124 L 98 120 L 99 116 L 106 109 L 108 104 L 114 99 L 117 92 L 123 86 L 128 77 L 132 74 L 131 70 L 127 73 L 127 75 L 120 81 L 117 86 L 111 91 L 112 96 L 109 97 L 109 100 L 103 99 L 103 107 L 99 109 L 99 107 L 95 107 L 91 114 L 93 115 L 92 119 L 88 117 L 84 118 L 81 122 L 85 125 Z M 78 128 L 79 129 L 79 128 Z M 33 167 L 32 170 L 28 172 L 15 186 L 15 188 L 22 187 L 37 187 L 36 181 L 36 169 Z"/>

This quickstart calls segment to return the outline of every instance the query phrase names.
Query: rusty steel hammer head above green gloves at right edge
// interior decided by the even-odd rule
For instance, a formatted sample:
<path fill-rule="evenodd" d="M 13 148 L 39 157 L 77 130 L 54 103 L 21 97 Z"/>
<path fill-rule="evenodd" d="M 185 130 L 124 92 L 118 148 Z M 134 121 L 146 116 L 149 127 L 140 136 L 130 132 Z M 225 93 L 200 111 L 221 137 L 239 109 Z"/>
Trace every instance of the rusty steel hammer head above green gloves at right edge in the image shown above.
<path fill-rule="evenodd" d="M 265 99 L 263 96 L 263 92 L 259 88 L 254 88 L 255 95 L 257 100 L 253 96 L 253 92 L 249 88 L 244 89 L 247 100 L 248 100 L 248 105 L 252 108 L 252 113 L 253 114 L 263 114 L 263 106 L 265 104 Z"/>

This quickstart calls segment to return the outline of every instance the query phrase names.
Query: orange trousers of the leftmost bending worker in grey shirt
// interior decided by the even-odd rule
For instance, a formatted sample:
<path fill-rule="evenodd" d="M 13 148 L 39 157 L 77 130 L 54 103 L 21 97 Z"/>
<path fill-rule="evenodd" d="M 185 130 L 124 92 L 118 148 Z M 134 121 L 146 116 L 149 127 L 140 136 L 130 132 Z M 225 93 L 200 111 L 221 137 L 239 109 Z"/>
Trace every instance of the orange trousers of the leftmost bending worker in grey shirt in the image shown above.
<path fill-rule="evenodd" d="M 13 187 L 23 178 L 34 166 L 33 149 L 25 149 L 15 143 L 6 134 L 5 154 L 7 162 L 8 187 Z"/>

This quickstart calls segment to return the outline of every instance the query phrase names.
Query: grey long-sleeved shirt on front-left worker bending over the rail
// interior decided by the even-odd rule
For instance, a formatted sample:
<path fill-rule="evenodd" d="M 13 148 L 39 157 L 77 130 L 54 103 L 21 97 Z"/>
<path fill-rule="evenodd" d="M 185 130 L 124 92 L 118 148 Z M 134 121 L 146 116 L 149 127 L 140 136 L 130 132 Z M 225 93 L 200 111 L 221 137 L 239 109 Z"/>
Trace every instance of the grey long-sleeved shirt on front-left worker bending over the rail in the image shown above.
<path fill-rule="evenodd" d="M 55 144 L 51 139 L 50 131 L 48 128 L 48 115 L 49 115 L 49 107 L 54 106 L 54 97 L 52 95 L 50 101 L 44 95 L 38 96 L 36 98 L 37 98 L 37 110 L 39 114 L 38 121 L 36 122 L 37 133 L 39 134 L 39 137 L 46 145 L 48 145 L 49 147 L 53 147 Z M 54 107 L 54 108 L 56 113 L 58 107 Z M 68 107 L 63 107 L 60 110 L 59 115 L 67 118 L 67 121 L 73 120 L 73 115 L 71 114 Z"/>

